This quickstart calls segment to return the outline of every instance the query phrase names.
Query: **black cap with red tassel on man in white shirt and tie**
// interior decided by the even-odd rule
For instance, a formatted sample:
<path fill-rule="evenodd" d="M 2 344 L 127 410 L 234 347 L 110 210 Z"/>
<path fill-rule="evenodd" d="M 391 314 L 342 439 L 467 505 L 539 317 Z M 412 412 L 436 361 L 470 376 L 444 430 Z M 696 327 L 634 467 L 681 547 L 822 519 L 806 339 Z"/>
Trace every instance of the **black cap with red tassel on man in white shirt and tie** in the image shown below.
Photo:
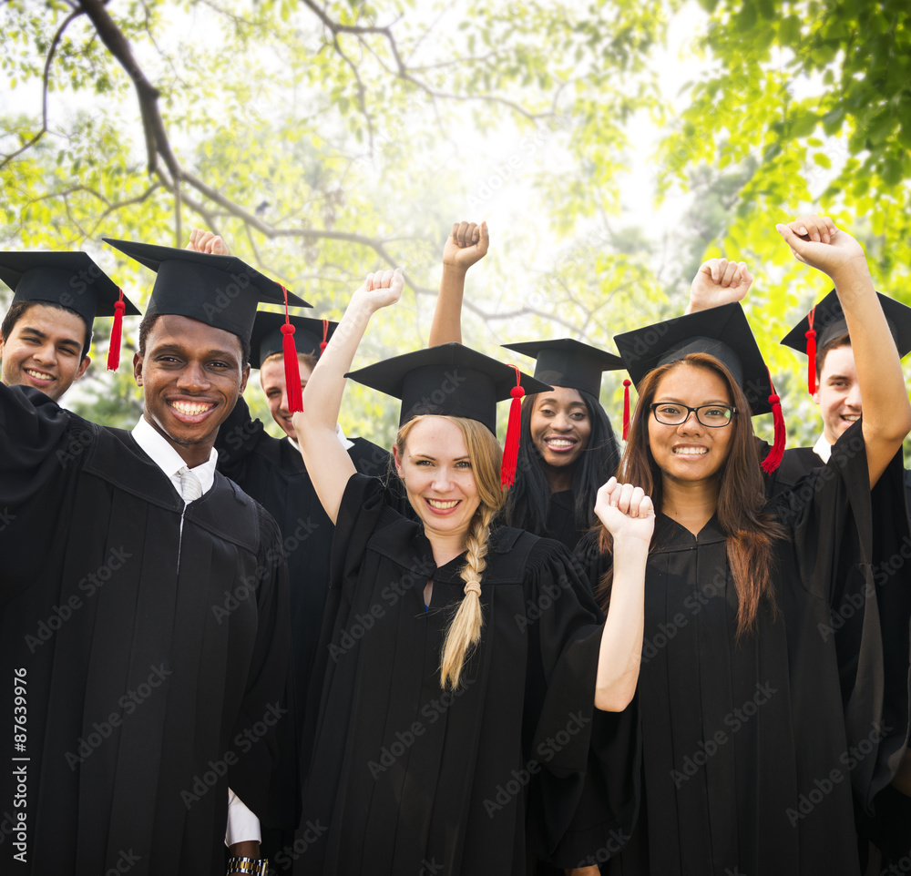
<path fill-rule="evenodd" d="M 288 307 L 310 307 L 281 285 L 270 280 L 237 256 L 214 255 L 195 250 L 178 250 L 151 243 L 102 238 L 131 259 L 157 274 L 148 300 L 148 313 L 173 313 L 230 331 L 243 341 L 251 340 L 256 306 L 259 302 L 281 304 L 285 309 L 285 379 L 292 413 L 302 409 L 301 374 L 294 349 L 294 326 Z"/>

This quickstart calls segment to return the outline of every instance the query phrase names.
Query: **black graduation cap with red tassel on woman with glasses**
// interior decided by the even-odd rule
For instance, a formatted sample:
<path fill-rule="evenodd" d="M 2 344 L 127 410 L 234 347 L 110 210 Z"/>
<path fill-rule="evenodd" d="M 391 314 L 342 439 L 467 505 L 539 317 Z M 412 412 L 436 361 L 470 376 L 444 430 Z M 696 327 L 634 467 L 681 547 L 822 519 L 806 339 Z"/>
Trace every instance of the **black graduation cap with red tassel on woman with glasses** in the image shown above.
<path fill-rule="evenodd" d="M 614 342 L 637 386 L 652 369 L 690 353 L 708 353 L 721 361 L 750 402 L 752 415 L 773 413 L 775 438 L 763 471 L 771 474 L 781 463 L 786 439 L 781 399 L 739 302 L 627 331 Z"/>

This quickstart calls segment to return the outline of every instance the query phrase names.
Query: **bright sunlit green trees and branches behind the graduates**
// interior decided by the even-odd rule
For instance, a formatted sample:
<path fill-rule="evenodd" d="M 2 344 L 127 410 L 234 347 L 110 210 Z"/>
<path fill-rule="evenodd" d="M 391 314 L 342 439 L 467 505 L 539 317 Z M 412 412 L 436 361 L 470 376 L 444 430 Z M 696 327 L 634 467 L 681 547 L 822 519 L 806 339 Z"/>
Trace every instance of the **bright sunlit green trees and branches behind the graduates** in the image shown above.
<path fill-rule="evenodd" d="M 85 249 L 143 302 L 148 271 L 100 237 L 184 246 L 210 228 L 336 319 L 366 271 L 404 265 L 404 300 L 358 364 L 425 343 L 458 219 L 491 227 L 465 336 L 494 355 L 534 337 L 610 348 L 680 312 L 701 260 L 723 253 L 758 278 L 748 313 L 792 443 L 812 443 L 802 363 L 777 341 L 824 278 L 774 222 L 833 215 L 903 297 L 908 13 L 703 6 L 6 0 L 0 242 Z M 619 376 L 605 391 L 616 422 Z M 97 364 L 66 401 L 121 425 L 139 404 L 128 374 Z M 343 413 L 388 443 L 384 400 L 352 387 Z"/>

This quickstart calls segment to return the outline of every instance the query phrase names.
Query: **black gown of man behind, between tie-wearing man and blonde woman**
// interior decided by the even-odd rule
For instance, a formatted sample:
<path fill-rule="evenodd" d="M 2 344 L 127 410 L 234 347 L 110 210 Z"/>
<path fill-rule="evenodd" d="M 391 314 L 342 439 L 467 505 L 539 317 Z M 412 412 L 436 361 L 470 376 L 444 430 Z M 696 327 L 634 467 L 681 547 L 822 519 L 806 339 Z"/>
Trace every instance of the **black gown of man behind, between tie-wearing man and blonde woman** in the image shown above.
<path fill-rule="evenodd" d="M 363 438 L 354 438 L 353 445 L 348 455 L 358 472 L 385 474 L 389 453 Z M 294 700 L 301 712 L 329 592 L 333 525 L 322 510 L 300 451 L 288 439 L 273 438 L 259 420 L 252 420 L 242 398 L 222 423 L 215 448 L 220 471 L 256 499 L 281 529 L 291 583 Z M 299 715 L 299 723 L 300 719 Z"/>

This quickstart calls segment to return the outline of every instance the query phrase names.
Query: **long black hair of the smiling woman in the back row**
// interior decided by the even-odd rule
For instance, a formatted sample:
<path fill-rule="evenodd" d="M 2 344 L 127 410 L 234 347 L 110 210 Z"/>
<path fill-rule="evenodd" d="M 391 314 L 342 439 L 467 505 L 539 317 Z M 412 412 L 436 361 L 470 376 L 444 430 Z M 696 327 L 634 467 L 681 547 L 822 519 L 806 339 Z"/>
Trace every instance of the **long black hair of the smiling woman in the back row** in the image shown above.
<path fill-rule="evenodd" d="M 620 452 L 608 415 L 598 399 L 590 392 L 577 392 L 589 409 L 591 423 L 589 441 L 575 463 L 572 478 L 576 529 L 584 533 L 598 523 L 595 496 L 599 486 L 617 472 Z M 507 498 L 506 521 L 507 525 L 527 529 L 534 535 L 552 535 L 548 533 L 550 487 L 541 453 L 531 440 L 531 412 L 535 399 L 537 395 L 527 395 L 522 401 L 522 441 L 518 448 L 516 484 Z"/>

